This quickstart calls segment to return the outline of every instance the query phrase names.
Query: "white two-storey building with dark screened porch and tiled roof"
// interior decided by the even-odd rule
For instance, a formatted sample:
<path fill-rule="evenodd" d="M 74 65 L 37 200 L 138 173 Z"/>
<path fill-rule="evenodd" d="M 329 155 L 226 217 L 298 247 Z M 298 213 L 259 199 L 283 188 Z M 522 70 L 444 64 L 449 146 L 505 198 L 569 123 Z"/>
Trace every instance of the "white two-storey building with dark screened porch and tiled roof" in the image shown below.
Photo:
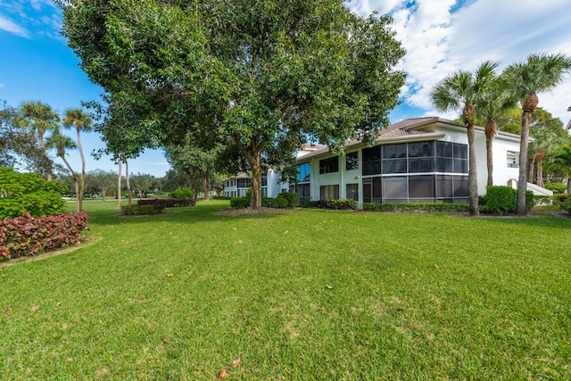
<path fill-rule="evenodd" d="M 498 131 L 493 140 L 493 184 L 517 186 L 519 136 Z M 487 180 L 484 128 L 476 127 L 478 194 Z M 302 200 L 354 199 L 362 203 L 468 202 L 468 134 L 463 124 L 438 117 L 401 120 L 377 142 L 358 140 L 344 156 L 304 145 L 297 155 L 296 192 Z M 531 185 L 530 185 L 531 186 Z M 534 193 L 544 193 L 534 186 Z"/>

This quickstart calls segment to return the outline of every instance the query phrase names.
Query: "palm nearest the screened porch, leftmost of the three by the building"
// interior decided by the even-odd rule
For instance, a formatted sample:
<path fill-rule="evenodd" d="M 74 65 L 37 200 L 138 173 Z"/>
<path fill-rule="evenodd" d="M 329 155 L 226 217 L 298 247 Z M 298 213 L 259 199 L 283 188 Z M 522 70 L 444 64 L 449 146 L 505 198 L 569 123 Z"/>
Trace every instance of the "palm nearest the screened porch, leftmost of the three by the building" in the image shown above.
<path fill-rule="evenodd" d="M 462 111 L 460 119 L 468 128 L 468 188 L 470 216 L 478 216 L 478 181 L 476 172 L 476 104 L 489 91 L 497 78 L 495 62 L 483 62 L 474 73 L 459 70 L 442 79 L 430 93 L 432 103 L 440 112 Z"/>

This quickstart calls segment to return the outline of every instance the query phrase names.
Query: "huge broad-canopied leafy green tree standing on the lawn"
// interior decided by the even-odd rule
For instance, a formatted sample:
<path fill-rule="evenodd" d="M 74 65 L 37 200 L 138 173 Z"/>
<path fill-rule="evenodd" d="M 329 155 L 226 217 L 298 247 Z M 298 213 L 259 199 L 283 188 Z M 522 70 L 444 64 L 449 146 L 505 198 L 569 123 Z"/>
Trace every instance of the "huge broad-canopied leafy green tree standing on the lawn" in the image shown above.
<path fill-rule="evenodd" d="M 253 208 L 267 150 L 369 141 L 404 84 L 391 19 L 360 18 L 342 0 L 71 0 L 63 10 L 89 78 L 145 110 L 145 126 L 167 141 L 192 128 L 199 142 L 236 145 Z"/>

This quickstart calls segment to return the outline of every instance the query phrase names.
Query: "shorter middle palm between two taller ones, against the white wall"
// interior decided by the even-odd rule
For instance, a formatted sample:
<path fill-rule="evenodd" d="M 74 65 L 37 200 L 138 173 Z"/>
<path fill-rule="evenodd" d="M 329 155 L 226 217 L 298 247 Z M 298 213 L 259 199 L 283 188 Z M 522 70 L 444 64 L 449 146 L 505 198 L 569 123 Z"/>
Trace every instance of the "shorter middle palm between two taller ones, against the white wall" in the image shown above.
<path fill-rule="evenodd" d="M 484 121 L 485 126 L 485 150 L 486 164 L 488 170 L 487 185 L 493 185 L 493 137 L 496 135 L 498 125 L 496 119 L 504 112 L 514 108 L 517 98 L 509 92 L 508 80 L 505 75 L 501 75 L 490 81 L 490 86 L 486 87 L 485 95 L 476 104 L 478 119 Z"/>

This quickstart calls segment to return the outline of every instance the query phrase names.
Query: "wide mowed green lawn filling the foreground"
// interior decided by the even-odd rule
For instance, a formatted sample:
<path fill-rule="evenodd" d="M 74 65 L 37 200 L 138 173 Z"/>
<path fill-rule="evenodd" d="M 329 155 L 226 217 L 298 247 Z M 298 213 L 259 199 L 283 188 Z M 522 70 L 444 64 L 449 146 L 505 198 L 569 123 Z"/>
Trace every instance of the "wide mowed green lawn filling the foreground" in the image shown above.
<path fill-rule="evenodd" d="M 0 271 L 0 379 L 571 379 L 571 219 L 85 206 Z"/>

